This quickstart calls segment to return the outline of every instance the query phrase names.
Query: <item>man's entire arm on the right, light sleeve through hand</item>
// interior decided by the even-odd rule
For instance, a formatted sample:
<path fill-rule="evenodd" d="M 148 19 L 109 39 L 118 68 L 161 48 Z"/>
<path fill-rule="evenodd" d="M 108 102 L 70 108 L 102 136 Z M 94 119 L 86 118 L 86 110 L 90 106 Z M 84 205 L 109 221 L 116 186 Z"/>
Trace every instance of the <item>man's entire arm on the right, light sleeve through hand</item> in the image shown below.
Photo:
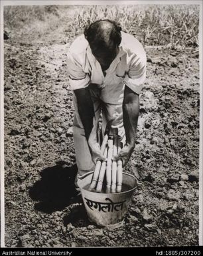
<path fill-rule="evenodd" d="M 137 45 L 137 41 L 135 41 L 135 45 Z M 137 130 L 139 116 L 139 94 L 141 93 L 146 78 L 146 53 L 140 43 L 137 46 L 139 47 L 139 55 L 137 55 L 137 49 L 135 49 L 135 55 L 131 59 L 129 72 L 125 75 L 123 80 L 125 83 L 123 124 L 126 142 L 122 150 L 114 158 L 114 160 L 120 158 L 123 161 L 123 166 L 127 164 L 135 148 L 135 132 Z"/>

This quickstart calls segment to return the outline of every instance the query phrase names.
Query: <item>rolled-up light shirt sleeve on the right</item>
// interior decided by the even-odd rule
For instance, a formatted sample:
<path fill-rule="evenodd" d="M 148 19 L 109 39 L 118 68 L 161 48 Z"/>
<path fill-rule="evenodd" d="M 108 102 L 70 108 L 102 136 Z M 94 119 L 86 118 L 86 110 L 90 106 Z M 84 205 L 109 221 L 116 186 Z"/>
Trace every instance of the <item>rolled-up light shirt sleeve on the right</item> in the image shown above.
<path fill-rule="evenodd" d="M 133 92 L 136 92 L 137 94 L 141 93 L 143 84 L 146 79 L 146 66 L 146 55 L 144 55 L 143 57 L 133 57 L 129 67 L 129 72 L 125 75 L 125 78 L 123 80 L 124 84 L 131 88 L 131 90 L 133 90 Z"/>

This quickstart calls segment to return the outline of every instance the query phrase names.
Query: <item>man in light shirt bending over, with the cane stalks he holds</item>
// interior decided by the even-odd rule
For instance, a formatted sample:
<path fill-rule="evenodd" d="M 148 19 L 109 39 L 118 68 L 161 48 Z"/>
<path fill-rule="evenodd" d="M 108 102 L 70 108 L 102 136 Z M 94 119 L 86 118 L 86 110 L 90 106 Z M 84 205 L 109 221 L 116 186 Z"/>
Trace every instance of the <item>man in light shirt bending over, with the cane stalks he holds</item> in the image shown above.
<path fill-rule="evenodd" d="M 74 91 L 76 188 L 78 179 L 93 171 L 90 190 L 121 192 L 123 168 L 135 148 L 145 50 L 115 21 L 105 19 L 86 27 L 67 60 Z"/>

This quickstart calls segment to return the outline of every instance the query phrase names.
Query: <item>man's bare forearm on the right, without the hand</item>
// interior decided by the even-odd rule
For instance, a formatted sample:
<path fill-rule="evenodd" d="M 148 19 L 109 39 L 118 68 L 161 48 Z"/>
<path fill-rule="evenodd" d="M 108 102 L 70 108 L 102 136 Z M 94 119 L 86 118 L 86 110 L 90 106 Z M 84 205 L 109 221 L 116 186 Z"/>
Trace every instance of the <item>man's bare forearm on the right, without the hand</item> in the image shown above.
<path fill-rule="evenodd" d="M 139 95 L 125 86 L 123 98 L 123 124 L 125 128 L 126 144 L 135 147 L 135 132 L 139 116 Z"/>

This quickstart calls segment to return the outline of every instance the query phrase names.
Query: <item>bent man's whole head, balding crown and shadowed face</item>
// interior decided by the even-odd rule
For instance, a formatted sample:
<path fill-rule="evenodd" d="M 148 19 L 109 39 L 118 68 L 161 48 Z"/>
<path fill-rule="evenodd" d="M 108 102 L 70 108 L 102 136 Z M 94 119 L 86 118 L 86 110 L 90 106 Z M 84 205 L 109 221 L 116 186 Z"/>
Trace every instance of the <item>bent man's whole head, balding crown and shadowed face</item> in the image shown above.
<path fill-rule="evenodd" d="M 115 59 L 121 43 L 121 27 L 108 19 L 92 23 L 84 35 L 90 44 L 94 57 L 102 66 L 109 66 Z"/>

